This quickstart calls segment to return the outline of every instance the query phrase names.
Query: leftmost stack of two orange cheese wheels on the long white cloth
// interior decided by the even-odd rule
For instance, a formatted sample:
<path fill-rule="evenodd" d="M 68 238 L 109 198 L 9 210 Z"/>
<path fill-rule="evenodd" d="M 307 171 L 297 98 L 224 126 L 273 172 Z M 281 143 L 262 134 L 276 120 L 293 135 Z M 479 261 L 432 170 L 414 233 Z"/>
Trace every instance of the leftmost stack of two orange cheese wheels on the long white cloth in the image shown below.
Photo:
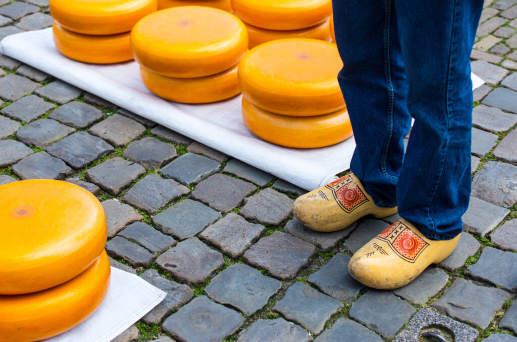
<path fill-rule="evenodd" d="M 63 55 L 86 63 L 133 59 L 130 31 L 158 0 L 50 0 L 54 43 Z"/>

